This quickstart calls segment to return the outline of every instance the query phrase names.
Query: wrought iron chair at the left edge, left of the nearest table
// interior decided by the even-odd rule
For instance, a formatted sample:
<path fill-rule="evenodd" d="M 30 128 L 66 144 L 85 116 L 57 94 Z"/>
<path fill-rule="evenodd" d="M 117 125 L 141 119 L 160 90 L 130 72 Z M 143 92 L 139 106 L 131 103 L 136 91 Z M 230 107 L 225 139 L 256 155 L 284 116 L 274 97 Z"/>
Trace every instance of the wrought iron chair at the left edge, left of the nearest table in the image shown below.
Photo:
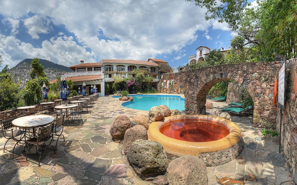
<path fill-rule="evenodd" d="M 21 136 L 21 135 L 24 133 L 24 131 L 17 129 L 17 128 L 15 128 L 12 125 L 11 122 L 14 119 L 15 118 L 7 119 L 7 120 L 4 120 L 4 121 L 0 120 L 0 122 L 1 122 L 1 130 L 3 132 L 3 136 L 4 136 L 4 138 L 7 139 L 7 141 L 5 142 L 4 147 L 3 147 L 3 152 L 5 152 L 5 146 L 6 146 L 7 142 L 10 139 L 12 139 L 13 141 L 16 141 L 15 146 L 17 146 L 18 143 L 20 143 L 21 141 L 23 141 L 22 139 L 23 139 L 24 135 L 23 136 Z M 18 139 L 17 138 L 18 136 L 21 136 L 21 137 Z M 12 149 L 12 156 L 14 156 L 15 146 Z M 9 150 L 6 150 L 6 151 L 9 151 Z"/>

